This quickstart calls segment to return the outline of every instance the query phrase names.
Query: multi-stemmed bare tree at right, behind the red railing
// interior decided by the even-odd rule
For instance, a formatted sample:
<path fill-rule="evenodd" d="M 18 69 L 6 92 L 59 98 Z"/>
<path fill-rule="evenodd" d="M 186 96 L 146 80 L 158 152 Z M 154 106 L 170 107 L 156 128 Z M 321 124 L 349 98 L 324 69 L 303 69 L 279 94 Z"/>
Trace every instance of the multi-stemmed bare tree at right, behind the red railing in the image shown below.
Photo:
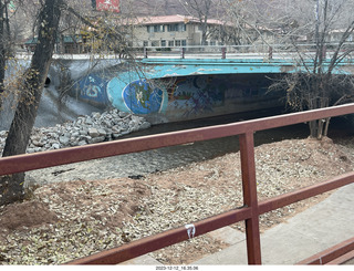
<path fill-rule="evenodd" d="M 351 75 L 337 74 L 339 63 L 352 53 L 353 46 L 346 45 L 354 32 L 354 21 L 347 21 L 340 40 L 331 44 L 331 55 L 326 53 L 331 30 L 337 24 L 337 18 L 347 8 L 345 1 L 316 0 L 314 30 L 314 52 L 303 51 L 293 40 L 298 52 L 298 65 L 304 71 L 287 74 L 283 80 L 274 83 L 271 90 L 287 90 L 288 105 L 295 111 L 315 110 L 345 103 L 354 95 L 354 82 Z M 342 20 L 345 21 L 345 20 Z M 327 58 L 330 56 L 330 59 Z M 336 73 L 334 73 L 336 70 Z M 310 136 L 326 136 L 330 119 L 319 119 L 310 123 Z"/>

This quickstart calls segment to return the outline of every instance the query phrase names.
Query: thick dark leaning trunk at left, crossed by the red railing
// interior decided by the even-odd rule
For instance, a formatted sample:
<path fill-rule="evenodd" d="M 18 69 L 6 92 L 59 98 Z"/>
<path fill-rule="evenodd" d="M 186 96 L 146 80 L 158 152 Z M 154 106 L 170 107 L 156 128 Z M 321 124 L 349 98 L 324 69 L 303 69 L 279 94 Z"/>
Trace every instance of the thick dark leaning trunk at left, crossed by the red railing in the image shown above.
<path fill-rule="evenodd" d="M 23 76 L 21 97 L 2 156 L 25 153 L 56 42 L 61 15 L 60 3 L 61 0 L 45 0 L 41 10 L 38 44 L 31 66 Z M 0 205 L 21 199 L 23 197 L 23 181 L 24 173 L 0 178 Z"/>

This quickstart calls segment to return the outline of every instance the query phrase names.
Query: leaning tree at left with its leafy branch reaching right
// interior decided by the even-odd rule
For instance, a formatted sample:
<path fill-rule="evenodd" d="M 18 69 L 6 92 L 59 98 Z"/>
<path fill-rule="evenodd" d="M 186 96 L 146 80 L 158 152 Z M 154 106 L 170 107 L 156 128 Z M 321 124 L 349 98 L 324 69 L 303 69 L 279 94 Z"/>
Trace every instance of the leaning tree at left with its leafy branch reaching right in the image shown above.
<path fill-rule="evenodd" d="M 74 2 L 74 0 L 67 1 Z M 128 50 L 129 44 L 126 40 L 126 32 L 124 32 L 126 29 L 125 27 L 116 28 L 114 23 L 117 22 L 116 20 L 108 21 L 107 18 L 86 17 L 77 9 L 69 6 L 65 0 L 43 0 L 40 3 L 41 11 L 35 23 L 38 43 L 30 67 L 23 74 L 21 84 L 18 85 L 20 96 L 3 148 L 3 157 L 24 154 L 27 150 L 61 27 L 73 27 L 72 31 L 74 33 L 75 28 L 79 28 L 77 25 L 88 25 L 93 29 L 94 38 L 101 39 L 102 43 L 110 43 L 110 46 L 108 46 L 108 50 L 118 50 L 128 58 L 134 58 Z M 71 20 L 71 23 L 60 24 L 63 13 L 74 15 L 76 21 L 65 17 L 66 20 Z M 95 53 L 106 52 L 107 45 L 101 49 L 103 51 L 95 51 Z M 0 205 L 21 199 L 24 196 L 23 181 L 24 173 L 0 177 Z"/>

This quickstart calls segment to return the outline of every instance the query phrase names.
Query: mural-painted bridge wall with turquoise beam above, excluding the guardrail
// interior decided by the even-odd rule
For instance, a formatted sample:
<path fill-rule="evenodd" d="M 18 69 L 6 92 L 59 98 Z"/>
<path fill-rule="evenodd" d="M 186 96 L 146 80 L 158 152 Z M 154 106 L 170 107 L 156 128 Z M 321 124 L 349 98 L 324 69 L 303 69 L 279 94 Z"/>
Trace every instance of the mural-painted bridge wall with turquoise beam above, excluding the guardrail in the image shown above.
<path fill-rule="evenodd" d="M 268 93 L 270 77 L 282 74 L 278 67 L 231 73 L 241 71 L 232 65 L 125 63 L 86 74 L 73 90 L 87 103 L 143 115 L 155 124 L 280 106 L 279 94 Z"/>

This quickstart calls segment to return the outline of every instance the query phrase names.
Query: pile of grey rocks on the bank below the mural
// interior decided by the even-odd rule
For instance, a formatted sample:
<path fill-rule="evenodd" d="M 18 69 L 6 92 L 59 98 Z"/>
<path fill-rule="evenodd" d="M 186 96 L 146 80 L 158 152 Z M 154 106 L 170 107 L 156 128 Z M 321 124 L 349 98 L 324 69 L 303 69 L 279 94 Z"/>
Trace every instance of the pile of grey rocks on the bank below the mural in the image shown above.
<path fill-rule="evenodd" d="M 150 127 L 144 117 L 112 110 L 80 116 L 74 122 L 56 124 L 54 127 L 34 127 L 27 153 L 59 149 L 116 139 L 132 132 Z M 8 132 L 0 132 L 2 152 Z"/>

